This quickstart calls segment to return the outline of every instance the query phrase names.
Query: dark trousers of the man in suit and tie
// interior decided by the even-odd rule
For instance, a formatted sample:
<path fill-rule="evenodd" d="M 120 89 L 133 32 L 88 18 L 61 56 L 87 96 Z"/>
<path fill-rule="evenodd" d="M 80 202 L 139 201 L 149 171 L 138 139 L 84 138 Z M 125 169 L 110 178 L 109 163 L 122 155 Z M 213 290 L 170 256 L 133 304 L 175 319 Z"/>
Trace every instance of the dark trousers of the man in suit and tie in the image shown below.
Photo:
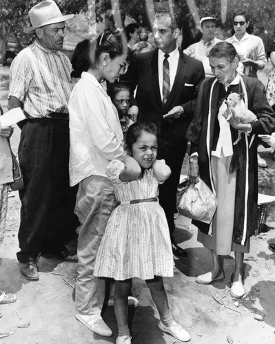
<path fill-rule="evenodd" d="M 159 204 L 163 207 L 167 218 L 170 237 L 175 228 L 174 212 L 176 209 L 176 189 L 179 184 L 181 176 L 181 167 L 187 148 L 187 141 L 183 144 L 165 144 L 161 147 L 159 152 L 159 159 L 164 159 L 166 164 L 170 167 L 172 173 L 163 184 L 159 185 Z"/>

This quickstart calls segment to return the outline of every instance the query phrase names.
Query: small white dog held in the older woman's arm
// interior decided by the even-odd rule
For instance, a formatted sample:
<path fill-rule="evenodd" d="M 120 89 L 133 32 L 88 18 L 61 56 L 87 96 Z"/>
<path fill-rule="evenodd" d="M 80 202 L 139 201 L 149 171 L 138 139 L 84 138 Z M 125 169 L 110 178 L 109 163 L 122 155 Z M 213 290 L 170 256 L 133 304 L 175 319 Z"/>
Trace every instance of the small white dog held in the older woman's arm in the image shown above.
<path fill-rule="evenodd" d="M 237 123 L 247 124 L 256 120 L 256 115 L 245 106 L 245 102 L 243 101 L 244 96 L 244 93 L 232 93 L 226 98 L 225 104 L 227 105 L 227 109 L 223 113 L 223 117 L 227 121 L 232 117 L 234 117 Z M 233 144 L 237 144 L 239 140 L 241 140 L 240 131 L 238 132 L 237 140 Z"/>

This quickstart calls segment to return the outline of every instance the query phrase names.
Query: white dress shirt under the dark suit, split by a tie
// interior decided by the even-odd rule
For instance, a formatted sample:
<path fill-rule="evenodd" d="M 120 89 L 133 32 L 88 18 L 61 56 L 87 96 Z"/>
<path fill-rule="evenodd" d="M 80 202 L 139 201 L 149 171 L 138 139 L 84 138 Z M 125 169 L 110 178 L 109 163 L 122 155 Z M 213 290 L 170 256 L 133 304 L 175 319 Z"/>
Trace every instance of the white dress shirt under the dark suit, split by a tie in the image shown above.
<path fill-rule="evenodd" d="M 164 55 L 165 55 L 165 52 L 162 52 L 159 49 L 158 67 L 159 67 L 159 90 L 161 92 L 161 100 L 163 100 L 163 61 L 164 61 Z M 170 52 L 167 60 L 169 62 L 170 92 L 171 92 L 171 89 L 174 85 L 174 80 L 176 78 L 176 69 L 178 69 L 178 64 L 179 64 L 178 46 L 176 46 L 176 49 L 173 52 Z"/>

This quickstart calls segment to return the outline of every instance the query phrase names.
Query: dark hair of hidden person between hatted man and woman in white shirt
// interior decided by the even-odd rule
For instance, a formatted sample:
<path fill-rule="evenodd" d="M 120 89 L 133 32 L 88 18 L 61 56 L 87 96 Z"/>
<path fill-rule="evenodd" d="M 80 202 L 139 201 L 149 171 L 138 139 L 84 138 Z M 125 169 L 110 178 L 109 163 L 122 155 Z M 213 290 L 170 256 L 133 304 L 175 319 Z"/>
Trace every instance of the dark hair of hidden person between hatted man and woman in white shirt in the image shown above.
<path fill-rule="evenodd" d="M 82 72 L 87 72 L 90 68 L 90 41 L 84 39 L 77 43 L 72 54 L 72 73 L 73 78 L 80 78 Z"/>

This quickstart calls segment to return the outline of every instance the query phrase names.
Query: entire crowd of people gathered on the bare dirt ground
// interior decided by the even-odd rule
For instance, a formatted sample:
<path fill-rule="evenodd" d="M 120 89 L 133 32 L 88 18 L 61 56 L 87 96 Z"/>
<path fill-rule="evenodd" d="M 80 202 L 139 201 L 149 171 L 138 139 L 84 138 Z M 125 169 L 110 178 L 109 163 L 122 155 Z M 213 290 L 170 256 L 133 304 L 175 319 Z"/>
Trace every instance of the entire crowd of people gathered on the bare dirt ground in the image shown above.
<path fill-rule="evenodd" d="M 274 103 L 256 78 L 265 65 L 263 42 L 247 34 L 249 19 L 236 12 L 230 39 L 216 39 L 217 20 L 203 17 L 201 41 L 181 52 L 181 19 L 163 10 L 154 17 L 156 48 L 139 25 L 117 30 L 110 19 L 108 30 L 80 42 L 70 61 L 61 48 L 65 21 L 73 14 L 64 16 L 45 0 L 29 17 L 25 32 L 36 39 L 12 62 L 9 111 L 1 116 L 23 118 L 21 275 L 39 279 L 39 253 L 78 261 L 75 316 L 101 336 L 112 336 L 101 314 L 110 283 L 116 344 L 132 343 L 128 307 L 139 304 L 131 295 L 132 278 L 144 279 L 159 311 L 159 329 L 190 341 L 172 317 L 162 279 L 173 276 L 173 255 L 187 259 L 173 236 L 183 158 L 189 140 L 190 181 L 202 178 L 218 203 L 210 224 L 194 222 L 198 241 L 212 255 L 210 272 L 196 282 L 224 279 L 223 257 L 233 251 L 230 293 L 241 298 L 243 257 L 258 224 L 258 135 L 275 131 Z M 231 93 L 243 95 L 256 120 L 225 119 Z M 272 92 L 269 98 L 274 100 Z M 0 238 L 12 182 L 11 135 L 12 127 L 1 127 L 0 118 Z M 274 145 L 270 138 L 265 142 Z M 68 250 L 76 239 L 77 252 Z M 0 292 L 0 304 L 15 300 Z"/>

